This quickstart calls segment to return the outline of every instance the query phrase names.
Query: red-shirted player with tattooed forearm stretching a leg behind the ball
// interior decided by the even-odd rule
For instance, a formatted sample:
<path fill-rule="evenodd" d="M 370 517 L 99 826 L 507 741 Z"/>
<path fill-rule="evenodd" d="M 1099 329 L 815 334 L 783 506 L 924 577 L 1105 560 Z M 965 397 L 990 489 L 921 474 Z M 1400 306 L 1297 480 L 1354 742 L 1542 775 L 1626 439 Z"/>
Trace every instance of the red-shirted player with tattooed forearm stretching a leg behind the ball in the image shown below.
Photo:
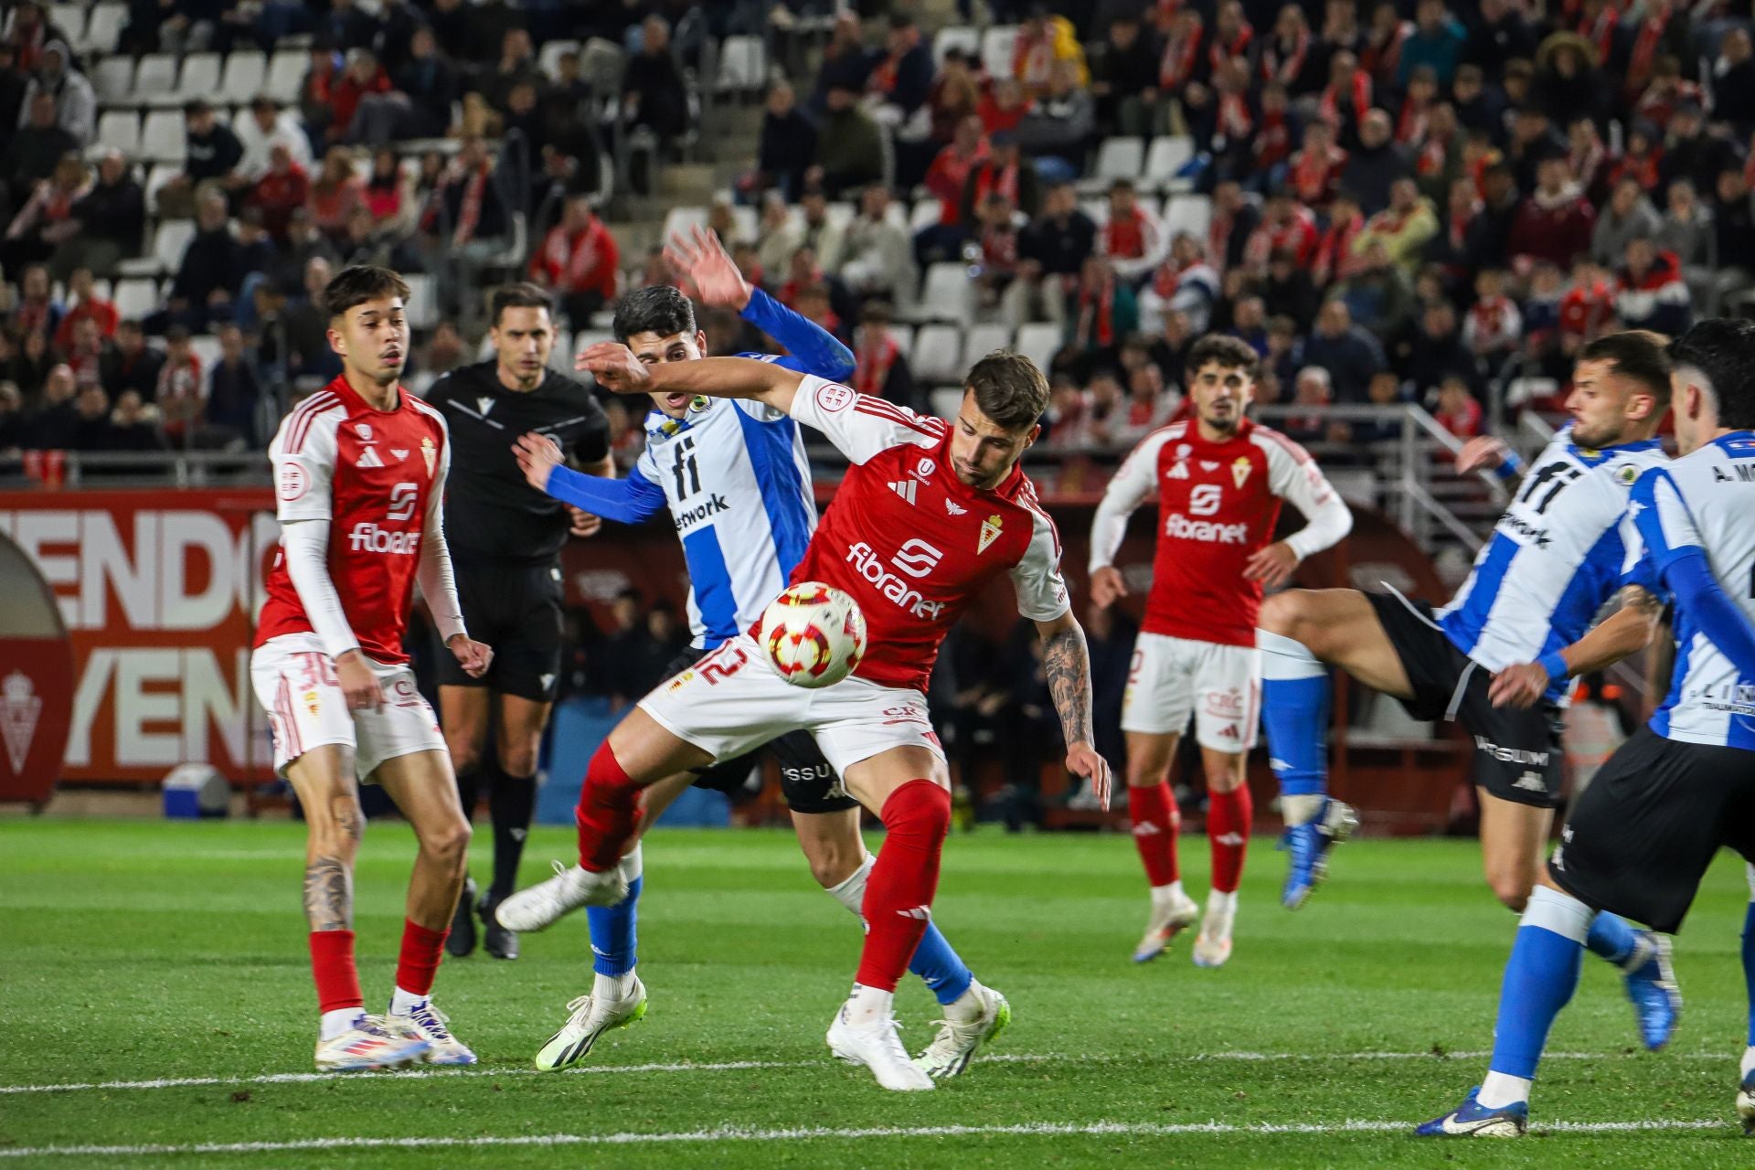
<path fill-rule="evenodd" d="M 895 986 L 932 919 L 951 821 L 925 686 L 946 631 L 993 577 L 1011 577 L 1020 612 L 1042 637 L 1067 768 L 1088 777 L 1104 805 L 1109 798 L 1109 767 L 1092 747 L 1090 658 L 1060 577 L 1060 542 L 1018 467 L 1039 433 L 1048 382 L 1027 358 L 990 354 L 969 370 L 958 416 L 946 423 L 765 361 L 644 365 L 625 346 L 602 344 L 579 365 L 618 393 L 753 398 L 823 432 L 849 468 L 792 579 L 848 593 L 865 616 L 869 649 L 851 677 L 802 689 L 769 663 L 758 623 L 658 686 L 591 758 L 577 809 L 579 865 L 502 902 L 500 919 L 511 930 L 541 930 L 581 905 L 620 902 L 627 879 L 618 863 L 639 830 L 642 789 L 807 730 L 888 830 L 865 886 L 858 975 L 828 1026 L 828 1047 L 870 1068 L 886 1089 L 932 1089 L 892 1014 Z"/>

